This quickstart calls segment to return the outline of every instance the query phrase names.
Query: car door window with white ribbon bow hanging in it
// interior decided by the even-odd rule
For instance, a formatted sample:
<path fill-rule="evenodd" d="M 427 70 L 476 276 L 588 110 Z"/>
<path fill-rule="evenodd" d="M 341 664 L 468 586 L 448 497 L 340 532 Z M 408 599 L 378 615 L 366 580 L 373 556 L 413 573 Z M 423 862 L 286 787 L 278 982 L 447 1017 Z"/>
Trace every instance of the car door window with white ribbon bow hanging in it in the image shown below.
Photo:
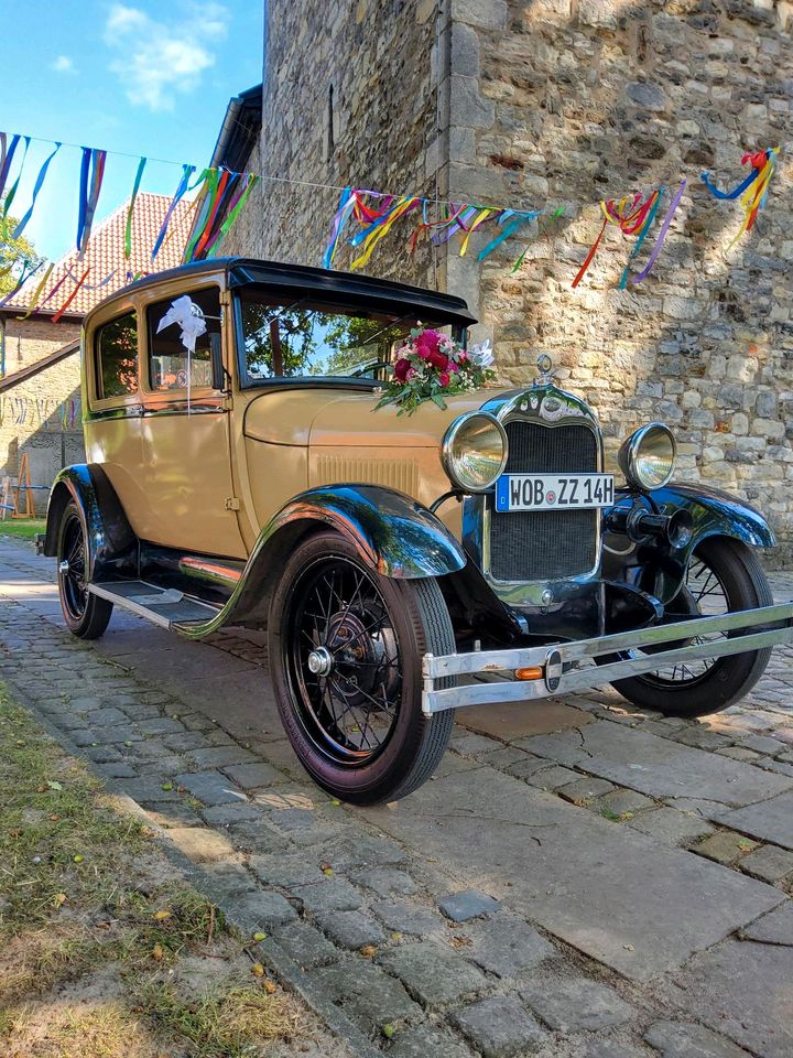
<path fill-rule="evenodd" d="M 157 301 L 146 310 L 149 381 L 154 392 L 220 388 L 220 291 Z"/>

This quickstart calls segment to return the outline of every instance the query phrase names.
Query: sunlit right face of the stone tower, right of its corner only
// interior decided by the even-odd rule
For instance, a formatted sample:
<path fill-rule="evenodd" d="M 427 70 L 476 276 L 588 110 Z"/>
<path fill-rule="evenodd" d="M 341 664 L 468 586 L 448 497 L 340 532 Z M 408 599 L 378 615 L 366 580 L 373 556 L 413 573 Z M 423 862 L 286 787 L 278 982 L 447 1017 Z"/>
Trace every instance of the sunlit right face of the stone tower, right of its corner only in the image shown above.
<path fill-rule="evenodd" d="M 536 354 L 550 353 L 596 407 L 610 452 L 639 423 L 666 420 L 680 476 L 754 501 L 790 560 L 791 170 L 783 153 L 767 210 L 731 249 L 739 209 L 716 203 L 698 174 L 731 186 L 745 150 L 791 147 L 793 7 L 456 0 L 454 18 L 453 194 L 566 204 L 567 218 L 514 276 L 520 239 L 484 264 L 450 260 L 449 289 L 476 306 L 506 378 L 530 381 Z M 615 289 L 630 242 L 613 229 L 573 290 L 602 217 L 571 207 L 659 183 L 674 191 L 682 174 L 686 194 L 648 280 Z"/>

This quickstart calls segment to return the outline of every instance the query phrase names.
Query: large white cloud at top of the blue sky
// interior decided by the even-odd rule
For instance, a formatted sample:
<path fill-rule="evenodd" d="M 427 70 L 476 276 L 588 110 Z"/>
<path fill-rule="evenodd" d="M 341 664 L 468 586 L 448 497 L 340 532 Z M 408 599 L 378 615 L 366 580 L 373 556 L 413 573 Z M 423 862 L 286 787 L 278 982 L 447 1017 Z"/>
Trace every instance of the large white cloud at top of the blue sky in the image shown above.
<path fill-rule="evenodd" d="M 228 12 L 218 3 L 188 2 L 183 15 L 152 19 L 140 8 L 113 3 L 105 43 L 118 57 L 118 74 L 130 102 L 151 110 L 173 110 L 177 93 L 189 93 L 215 64 L 213 45 L 227 32 Z"/>

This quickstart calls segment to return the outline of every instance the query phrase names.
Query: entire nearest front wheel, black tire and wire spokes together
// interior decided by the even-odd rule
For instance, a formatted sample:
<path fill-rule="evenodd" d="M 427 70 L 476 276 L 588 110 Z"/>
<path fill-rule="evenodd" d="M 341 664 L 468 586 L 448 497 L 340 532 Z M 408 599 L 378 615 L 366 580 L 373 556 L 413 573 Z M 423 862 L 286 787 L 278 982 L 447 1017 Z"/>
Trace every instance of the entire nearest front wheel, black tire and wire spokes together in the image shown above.
<path fill-rule="evenodd" d="M 432 719 L 421 711 L 422 657 L 455 649 L 434 579 L 381 576 L 340 533 L 318 532 L 286 563 L 268 625 L 281 720 L 318 786 L 373 805 L 406 797 L 430 778 L 454 721 L 450 711 Z M 327 674 L 308 667 L 321 648 Z"/>

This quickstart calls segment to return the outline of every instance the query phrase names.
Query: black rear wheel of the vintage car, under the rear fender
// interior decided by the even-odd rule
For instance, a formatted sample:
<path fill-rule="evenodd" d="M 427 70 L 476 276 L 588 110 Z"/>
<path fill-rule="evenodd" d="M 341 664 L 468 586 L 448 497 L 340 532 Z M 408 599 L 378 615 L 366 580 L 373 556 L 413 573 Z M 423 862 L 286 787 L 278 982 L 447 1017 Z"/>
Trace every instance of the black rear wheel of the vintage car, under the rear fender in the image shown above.
<path fill-rule="evenodd" d="M 98 639 L 112 614 L 112 603 L 88 591 L 86 581 L 87 541 L 85 527 L 74 500 L 64 508 L 58 526 L 58 596 L 72 635 Z"/>

